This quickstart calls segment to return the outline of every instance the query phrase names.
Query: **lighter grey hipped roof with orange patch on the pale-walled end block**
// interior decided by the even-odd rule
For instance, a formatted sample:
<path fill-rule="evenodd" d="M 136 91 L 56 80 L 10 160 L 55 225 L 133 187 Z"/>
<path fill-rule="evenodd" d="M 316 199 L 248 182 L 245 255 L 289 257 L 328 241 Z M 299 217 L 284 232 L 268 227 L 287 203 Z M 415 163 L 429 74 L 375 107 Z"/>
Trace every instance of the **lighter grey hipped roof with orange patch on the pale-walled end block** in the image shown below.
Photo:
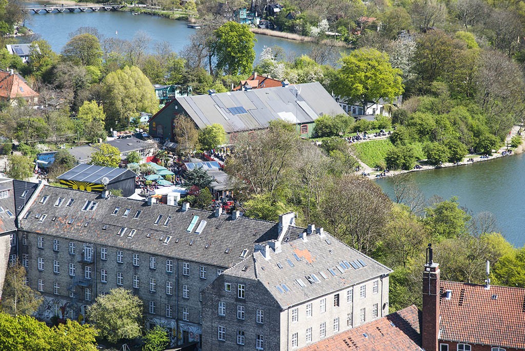
<path fill-rule="evenodd" d="M 251 261 L 246 259 L 224 274 L 250 278 L 246 274 L 253 271 L 251 279 L 259 280 L 285 308 L 392 272 L 330 234 L 313 233 L 306 238 L 282 242 L 278 253 L 269 249 L 269 260 L 257 251 Z M 355 263 L 357 260 L 364 266 Z"/>

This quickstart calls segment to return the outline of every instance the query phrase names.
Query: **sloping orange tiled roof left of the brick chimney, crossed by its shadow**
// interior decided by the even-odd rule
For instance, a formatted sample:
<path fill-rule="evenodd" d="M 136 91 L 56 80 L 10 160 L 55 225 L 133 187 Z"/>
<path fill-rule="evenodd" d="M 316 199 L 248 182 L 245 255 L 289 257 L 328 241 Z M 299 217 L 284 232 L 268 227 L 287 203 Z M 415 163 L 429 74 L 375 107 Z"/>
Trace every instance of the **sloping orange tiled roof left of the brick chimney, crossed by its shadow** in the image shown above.
<path fill-rule="evenodd" d="M 412 305 L 300 351 L 421 351 L 420 318 L 417 307 Z"/>

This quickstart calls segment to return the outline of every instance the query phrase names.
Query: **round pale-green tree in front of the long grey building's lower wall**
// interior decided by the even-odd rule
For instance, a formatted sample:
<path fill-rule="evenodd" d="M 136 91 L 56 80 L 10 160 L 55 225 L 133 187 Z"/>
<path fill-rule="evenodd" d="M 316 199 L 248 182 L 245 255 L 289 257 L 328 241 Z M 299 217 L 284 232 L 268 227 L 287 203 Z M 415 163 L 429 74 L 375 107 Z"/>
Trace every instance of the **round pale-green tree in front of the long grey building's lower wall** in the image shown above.
<path fill-rule="evenodd" d="M 143 304 L 129 290 L 116 288 L 108 295 L 97 296 L 97 301 L 87 308 L 87 317 L 100 331 L 100 336 L 116 343 L 141 335 Z"/>

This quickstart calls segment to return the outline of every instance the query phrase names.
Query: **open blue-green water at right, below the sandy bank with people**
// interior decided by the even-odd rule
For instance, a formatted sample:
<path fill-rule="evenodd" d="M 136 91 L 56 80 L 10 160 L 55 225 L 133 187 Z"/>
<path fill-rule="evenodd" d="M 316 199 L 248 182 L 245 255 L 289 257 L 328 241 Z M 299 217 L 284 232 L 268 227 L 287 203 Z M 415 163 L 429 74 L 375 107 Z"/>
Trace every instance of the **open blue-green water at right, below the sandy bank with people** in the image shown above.
<path fill-rule="evenodd" d="M 497 229 L 514 246 L 525 244 L 525 153 L 468 166 L 407 173 L 425 197 L 439 195 L 445 200 L 458 197 L 461 206 L 474 214 L 496 215 Z M 393 198 L 392 178 L 376 181 Z"/>

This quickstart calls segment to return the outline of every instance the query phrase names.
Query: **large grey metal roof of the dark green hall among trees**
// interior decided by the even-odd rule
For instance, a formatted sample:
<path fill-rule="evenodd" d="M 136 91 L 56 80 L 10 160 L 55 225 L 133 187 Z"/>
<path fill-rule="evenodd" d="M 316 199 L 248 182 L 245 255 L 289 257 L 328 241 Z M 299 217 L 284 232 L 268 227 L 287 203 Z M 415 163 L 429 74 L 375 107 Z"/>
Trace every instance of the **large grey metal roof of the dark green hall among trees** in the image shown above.
<path fill-rule="evenodd" d="M 176 101 L 199 128 L 219 123 L 226 132 L 264 128 L 274 119 L 308 123 L 321 114 L 345 113 L 319 82 L 184 96 Z"/>

